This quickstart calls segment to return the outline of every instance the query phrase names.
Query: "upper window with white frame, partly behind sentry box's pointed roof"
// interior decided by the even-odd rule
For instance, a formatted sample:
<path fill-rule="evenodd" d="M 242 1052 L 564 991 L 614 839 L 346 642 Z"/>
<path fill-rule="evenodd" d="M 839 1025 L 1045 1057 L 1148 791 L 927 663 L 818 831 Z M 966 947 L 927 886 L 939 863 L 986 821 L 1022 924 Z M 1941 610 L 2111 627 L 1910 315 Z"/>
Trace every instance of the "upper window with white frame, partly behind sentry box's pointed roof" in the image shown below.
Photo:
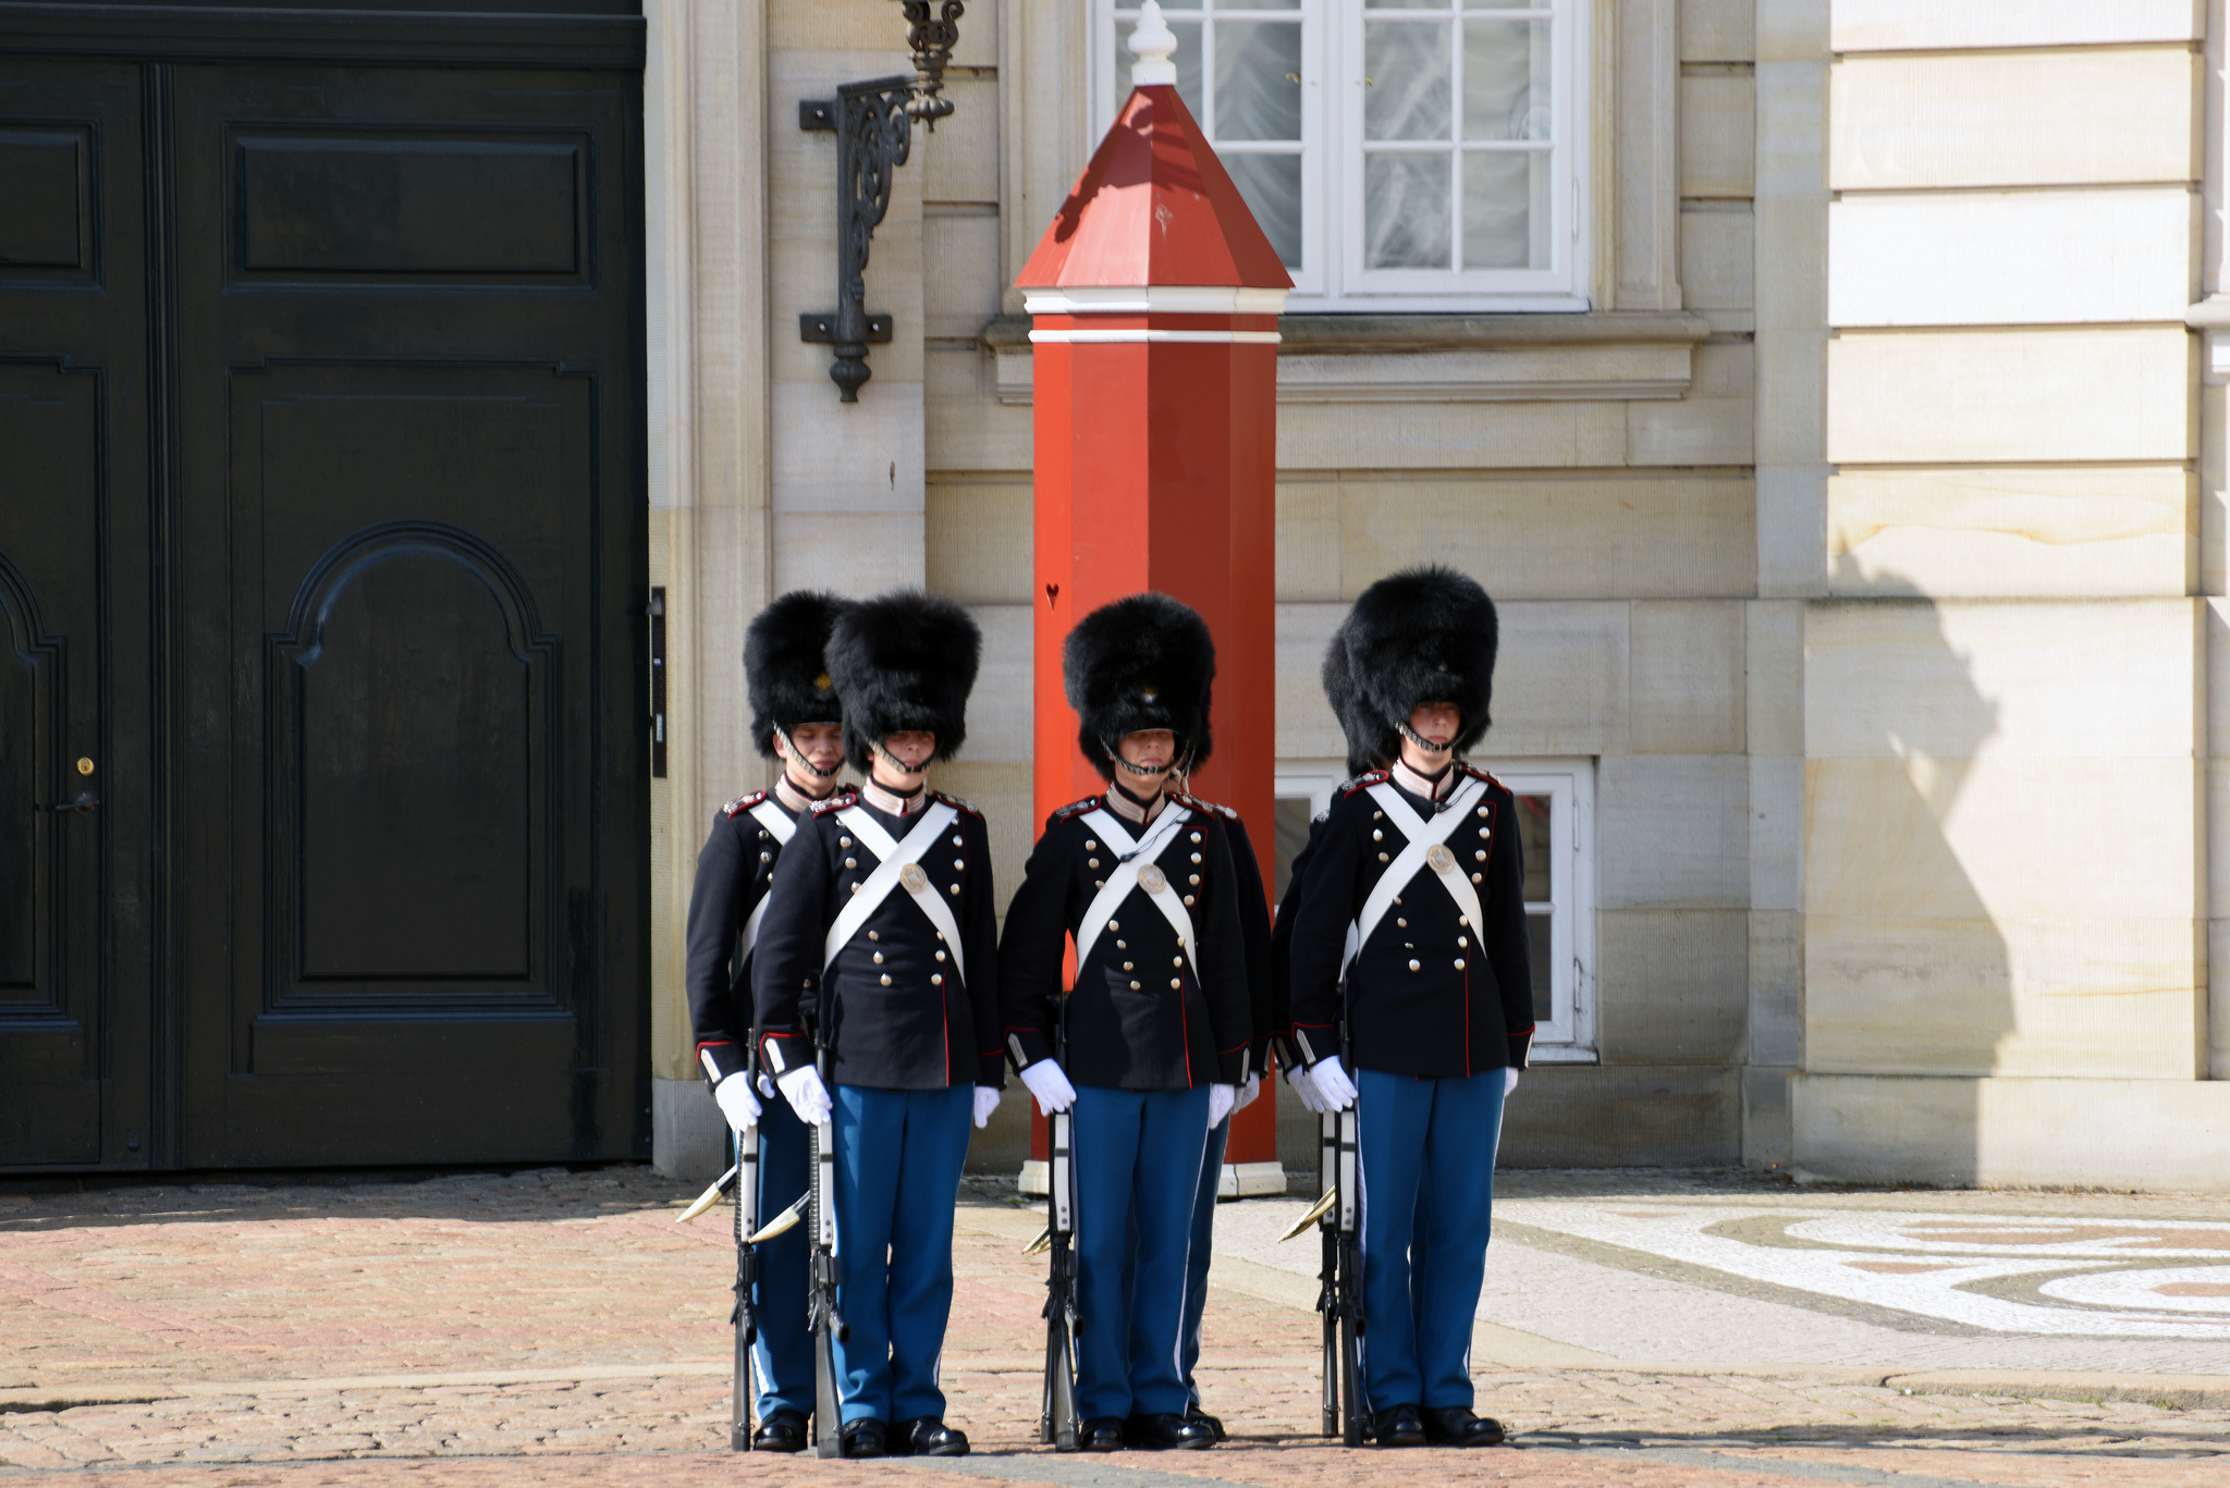
<path fill-rule="evenodd" d="M 1574 310 L 1586 0 L 1175 0 L 1177 94 L 1293 310 Z M 1137 9 L 1095 0 L 1093 116 Z"/>

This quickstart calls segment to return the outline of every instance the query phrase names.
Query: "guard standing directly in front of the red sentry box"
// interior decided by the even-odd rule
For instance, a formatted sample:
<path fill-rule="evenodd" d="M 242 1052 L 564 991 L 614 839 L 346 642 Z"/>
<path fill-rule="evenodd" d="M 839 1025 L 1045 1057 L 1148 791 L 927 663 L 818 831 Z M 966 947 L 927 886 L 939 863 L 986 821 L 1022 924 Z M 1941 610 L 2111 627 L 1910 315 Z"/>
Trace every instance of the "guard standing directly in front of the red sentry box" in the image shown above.
<path fill-rule="evenodd" d="M 999 946 L 1008 1053 L 1039 1109 L 1073 1109 L 1077 1446 L 1095 1452 L 1215 1446 L 1189 1419 L 1180 1339 L 1206 1138 L 1247 1084 L 1251 991 L 1224 819 L 1164 790 L 1206 745 L 1213 676 L 1209 627 L 1162 593 L 1068 634 L 1061 683 L 1108 790 L 1046 821 Z"/>

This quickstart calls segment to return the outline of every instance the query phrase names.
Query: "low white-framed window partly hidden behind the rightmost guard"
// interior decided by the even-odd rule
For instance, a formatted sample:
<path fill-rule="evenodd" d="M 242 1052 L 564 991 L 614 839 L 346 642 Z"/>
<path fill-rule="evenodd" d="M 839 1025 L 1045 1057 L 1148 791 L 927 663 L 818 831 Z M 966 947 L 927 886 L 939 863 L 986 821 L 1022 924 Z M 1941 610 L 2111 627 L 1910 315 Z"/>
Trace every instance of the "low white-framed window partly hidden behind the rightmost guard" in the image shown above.
<path fill-rule="evenodd" d="M 1519 799 L 1525 944 L 1536 1064 L 1594 1062 L 1594 765 L 1579 759 L 1474 761 Z M 1284 899 L 1309 823 L 1345 779 L 1336 763 L 1278 767 L 1276 892 Z"/>

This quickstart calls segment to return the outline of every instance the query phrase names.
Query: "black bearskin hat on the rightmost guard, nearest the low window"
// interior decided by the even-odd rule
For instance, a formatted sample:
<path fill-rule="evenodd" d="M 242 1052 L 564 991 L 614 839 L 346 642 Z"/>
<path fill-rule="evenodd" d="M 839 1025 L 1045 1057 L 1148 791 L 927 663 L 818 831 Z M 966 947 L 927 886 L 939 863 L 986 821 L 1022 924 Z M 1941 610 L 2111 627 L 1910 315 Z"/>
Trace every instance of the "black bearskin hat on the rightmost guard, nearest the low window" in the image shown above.
<path fill-rule="evenodd" d="M 1387 573 L 1340 620 L 1347 671 L 1371 727 L 1394 741 L 1418 703 L 1463 714 L 1456 754 L 1487 732 L 1494 696 L 1494 600 L 1467 573 L 1423 564 Z"/>

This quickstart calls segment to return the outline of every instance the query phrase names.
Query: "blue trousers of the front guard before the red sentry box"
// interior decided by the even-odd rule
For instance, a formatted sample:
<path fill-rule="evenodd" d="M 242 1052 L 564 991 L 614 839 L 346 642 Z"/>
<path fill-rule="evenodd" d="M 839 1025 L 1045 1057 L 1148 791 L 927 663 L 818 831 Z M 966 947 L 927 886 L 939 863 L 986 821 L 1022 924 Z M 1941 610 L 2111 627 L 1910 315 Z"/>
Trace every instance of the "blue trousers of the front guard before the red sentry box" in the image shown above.
<path fill-rule="evenodd" d="M 1077 1417 L 1086 1421 L 1184 1412 L 1180 1334 L 1206 1140 L 1209 1086 L 1077 1091 Z"/>

